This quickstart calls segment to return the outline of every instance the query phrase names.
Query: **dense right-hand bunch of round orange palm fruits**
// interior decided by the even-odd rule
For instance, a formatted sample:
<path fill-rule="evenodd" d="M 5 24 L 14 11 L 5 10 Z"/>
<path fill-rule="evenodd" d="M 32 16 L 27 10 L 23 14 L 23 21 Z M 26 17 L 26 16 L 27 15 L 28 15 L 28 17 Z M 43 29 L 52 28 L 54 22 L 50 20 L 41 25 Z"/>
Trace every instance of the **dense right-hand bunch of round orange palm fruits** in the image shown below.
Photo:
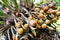
<path fill-rule="evenodd" d="M 37 12 L 37 23 L 40 24 L 42 28 L 46 28 L 52 22 L 56 22 L 60 15 L 56 2 L 43 5 L 42 8 L 36 7 L 34 11 Z"/>

